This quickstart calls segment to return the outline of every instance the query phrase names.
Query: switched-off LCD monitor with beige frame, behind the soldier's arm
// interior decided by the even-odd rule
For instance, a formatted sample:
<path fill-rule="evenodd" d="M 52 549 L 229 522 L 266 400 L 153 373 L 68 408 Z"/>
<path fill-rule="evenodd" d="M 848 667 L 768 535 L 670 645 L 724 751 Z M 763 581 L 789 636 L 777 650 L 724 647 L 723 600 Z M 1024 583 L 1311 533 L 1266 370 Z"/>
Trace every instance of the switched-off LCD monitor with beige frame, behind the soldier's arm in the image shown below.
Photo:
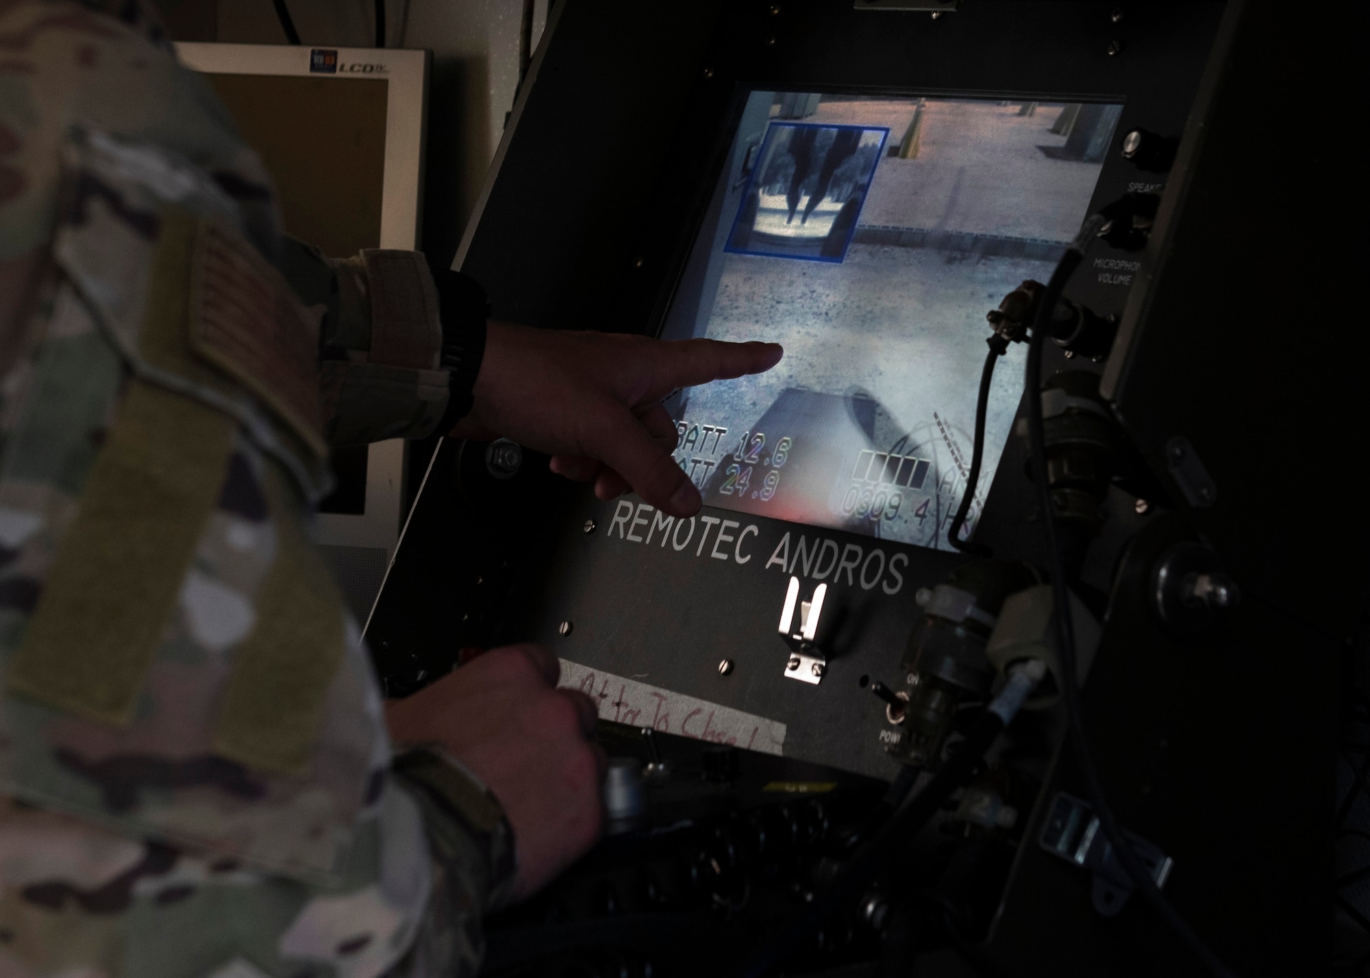
<path fill-rule="evenodd" d="M 416 248 L 427 53 L 177 44 L 275 182 L 285 231 L 330 258 Z M 337 449 L 314 538 L 366 622 L 400 533 L 403 440 Z"/>

